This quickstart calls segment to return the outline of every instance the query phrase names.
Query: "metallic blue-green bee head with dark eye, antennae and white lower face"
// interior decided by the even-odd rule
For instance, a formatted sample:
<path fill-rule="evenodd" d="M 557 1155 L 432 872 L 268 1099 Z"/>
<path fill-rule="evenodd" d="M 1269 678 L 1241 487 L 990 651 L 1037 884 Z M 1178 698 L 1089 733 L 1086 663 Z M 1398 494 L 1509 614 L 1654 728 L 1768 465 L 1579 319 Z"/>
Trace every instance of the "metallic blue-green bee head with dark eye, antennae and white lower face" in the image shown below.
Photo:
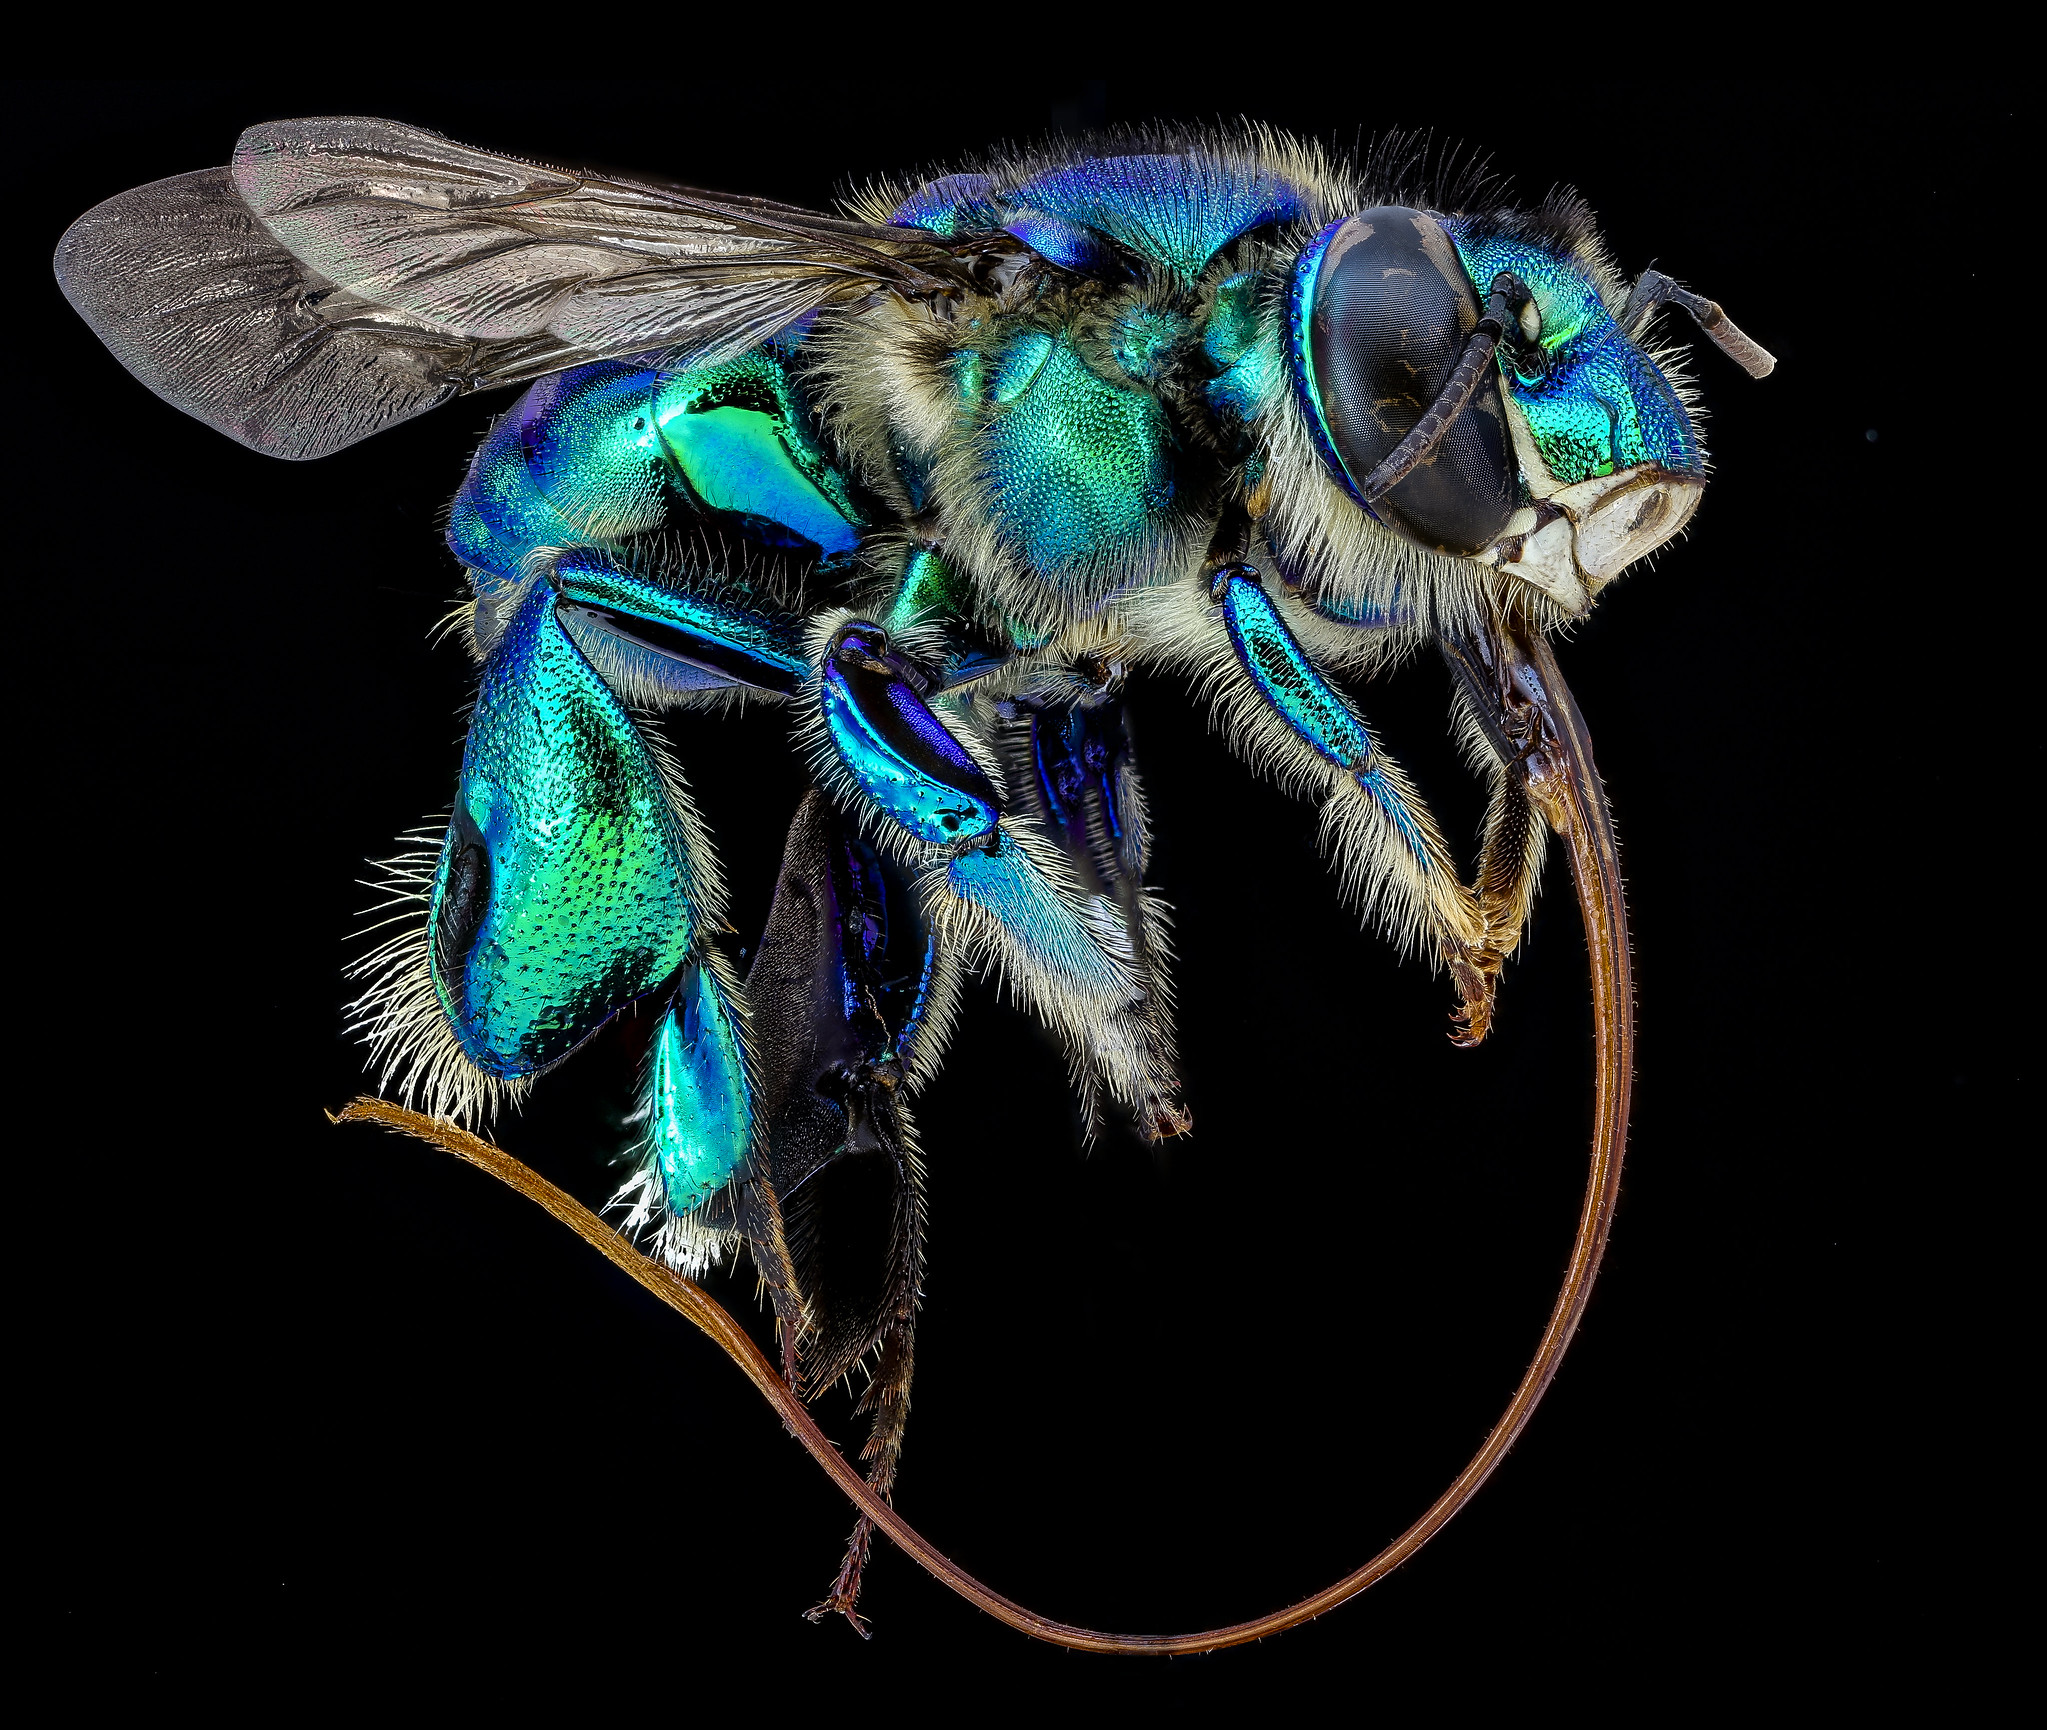
<path fill-rule="evenodd" d="M 1609 309 L 1603 274 L 1597 242 L 1535 221 L 1382 205 L 1308 244 L 1288 301 L 1294 385 L 1357 504 L 1566 612 L 1676 534 L 1705 485 L 1691 412 L 1636 340 L 1656 307 L 1756 377 L 1775 364 L 1654 270 Z"/>

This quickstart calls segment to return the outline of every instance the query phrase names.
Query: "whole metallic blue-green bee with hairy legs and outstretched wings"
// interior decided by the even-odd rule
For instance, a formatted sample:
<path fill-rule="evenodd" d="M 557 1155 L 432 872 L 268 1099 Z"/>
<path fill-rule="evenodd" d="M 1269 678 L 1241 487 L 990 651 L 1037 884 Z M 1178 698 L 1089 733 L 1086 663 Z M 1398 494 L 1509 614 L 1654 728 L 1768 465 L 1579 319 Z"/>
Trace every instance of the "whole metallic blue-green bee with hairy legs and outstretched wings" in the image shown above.
<path fill-rule="evenodd" d="M 1486 1034 L 1550 829 L 1572 846 L 1593 1200 L 1494 1452 L 1402 1554 L 1570 1339 L 1625 1132 L 1627 952 L 1545 637 L 1699 504 L 1658 309 L 1771 360 L 1670 278 L 1627 285 L 1574 197 L 1417 176 L 1398 149 L 1161 131 L 819 215 L 317 119 L 59 246 L 145 385 L 276 457 L 528 385 L 452 506 L 481 684 L 452 815 L 391 866 L 403 917 L 362 964 L 360 1030 L 399 1099 L 477 1120 L 637 1011 L 616 1206 L 682 1273 L 751 1253 L 790 1388 L 866 1366 L 878 1503 L 921 1280 L 911 1099 L 962 977 L 1062 1040 L 1091 1126 L 1189 1128 L 1136 665 L 1185 674 L 1320 805 L 1343 893 L 1447 968 L 1460 1042 Z M 1470 884 L 1353 698 L 1425 647 L 1492 788 Z M 741 981 L 655 715 L 749 700 L 790 710 L 815 790 Z M 821 1605 L 856 1626 L 870 1531 Z"/>

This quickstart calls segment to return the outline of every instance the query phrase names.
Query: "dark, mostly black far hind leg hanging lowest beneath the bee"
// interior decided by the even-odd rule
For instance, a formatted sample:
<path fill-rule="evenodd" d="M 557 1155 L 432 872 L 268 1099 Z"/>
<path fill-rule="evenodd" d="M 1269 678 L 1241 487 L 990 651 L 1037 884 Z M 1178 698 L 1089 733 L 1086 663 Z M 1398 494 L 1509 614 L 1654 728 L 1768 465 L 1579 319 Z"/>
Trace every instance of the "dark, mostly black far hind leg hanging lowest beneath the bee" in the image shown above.
<path fill-rule="evenodd" d="M 895 1488 L 923 1280 L 923 1161 L 907 1093 L 938 1061 L 952 970 L 907 886 L 811 792 L 790 825 L 747 997 L 766 1163 L 802 1304 L 798 1390 L 870 1355 L 868 1482 Z M 854 1527 L 829 1597 L 854 1605 L 872 1527 Z"/>

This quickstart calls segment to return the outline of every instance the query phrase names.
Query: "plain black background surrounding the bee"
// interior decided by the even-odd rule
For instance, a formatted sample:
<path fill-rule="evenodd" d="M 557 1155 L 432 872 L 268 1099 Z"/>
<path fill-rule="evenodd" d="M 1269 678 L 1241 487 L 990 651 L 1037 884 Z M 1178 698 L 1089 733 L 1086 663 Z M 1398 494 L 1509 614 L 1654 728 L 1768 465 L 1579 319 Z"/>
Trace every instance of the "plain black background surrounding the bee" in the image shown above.
<path fill-rule="evenodd" d="M 2000 1212 L 2010 1147 L 1975 1114 L 2016 1093 L 2031 964 L 2014 837 L 1969 780 L 2029 626 L 2000 586 L 2037 489 L 1981 420 L 2016 395 L 2000 319 L 2037 321 L 2000 237 L 2014 102 L 1898 80 L 1462 102 L 1226 70 L 991 90 L 935 55 L 673 88 L 647 66 L 10 92 L 12 160 L 39 168 L 16 186 L 8 465 L 33 549 L 8 680 L 10 1101 L 35 1126 L 14 1427 L 68 1687 L 297 1716 L 575 1685 L 590 1716 L 665 1716 L 721 1685 L 768 1714 L 870 1691 L 960 1714 L 1316 1679 L 1443 1712 L 1591 1689 L 1634 1716 L 1928 1656 L 1965 1675 L 1977 1646 L 1941 1658 L 1930 1634 L 1967 1583 L 1943 1509 L 1975 1503 L 1967 1462 L 1996 1443 L 1963 1361 L 1988 1310 L 1943 1304 Z M 471 669 L 428 643 L 459 590 L 436 514 L 502 403 L 272 463 L 135 385 L 45 264 L 88 205 L 317 113 L 813 205 L 1050 125 L 1435 127 L 1525 197 L 1582 186 L 1625 268 L 1656 260 L 1779 354 L 1765 383 L 1699 356 L 1707 504 L 1562 649 L 1631 886 L 1629 1173 L 1548 1402 L 1392 1581 L 1265 1646 L 1112 1662 L 1032 1646 L 884 1546 L 874 1642 L 807 1626 L 847 1511 L 731 1366 L 477 1173 L 330 1128 L 360 1087 L 360 860 L 446 809 L 459 762 Z M 1365 706 L 1468 850 L 1441 669 Z M 1138 688 L 1136 729 L 1197 1132 L 1083 1153 L 1058 1056 L 972 993 L 919 1112 L 899 1505 L 1038 1609 L 1169 1630 L 1349 1570 L 1478 1445 L 1570 1241 L 1591 1013 L 1562 860 L 1492 1042 L 1455 1052 L 1447 987 L 1337 907 L 1312 813 L 1173 682 Z M 802 784 L 784 731 L 676 729 L 747 942 Z M 606 1042 L 504 1140 L 602 1202 L 628 1083 Z M 749 1278 L 714 1290 L 766 1337 Z M 854 1435 L 845 1404 L 821 1415 Z"/>

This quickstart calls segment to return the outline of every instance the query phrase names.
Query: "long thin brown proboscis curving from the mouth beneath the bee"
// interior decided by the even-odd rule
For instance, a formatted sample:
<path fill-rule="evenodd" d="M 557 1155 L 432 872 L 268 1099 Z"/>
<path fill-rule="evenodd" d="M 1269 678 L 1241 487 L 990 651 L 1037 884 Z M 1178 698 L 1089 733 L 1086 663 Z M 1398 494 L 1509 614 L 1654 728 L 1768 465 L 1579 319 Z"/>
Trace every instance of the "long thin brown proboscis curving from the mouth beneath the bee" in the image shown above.
<path fill-rule="evenodd" d="M 1584 731 L 1578 706 L 1564 686 L 1550 645 L 1529 633 L 1525 639 L 1505 637 L 1496 643 L 1505 661 L 1519 661 L 1517 672 L 1533 674 L 1521 678 L 1519 686 L 1535 694 L 1537 739 L 1525 762 L 1529 796 L 1541 809 L 1550 825 L 1564 835 L 1570 846 L 1570 868 L 1578 889 L 1578 911 L 1584 917 L 1584 938 L 1593 962 L 1593 1018 L 1597 1030 L 1597 1099 L 1593 1120 L 1593 1169 L 1584 1187 L 1584 1206 L 1578 1214 L 1578 1235 L 1570 1249 L 1570 1265 L 1564 1271 L 1564 1286 L 1550 1310 L 1550 1325 L 1543 1329 L 1535 1359 L 1529 1364 L 1513 1400 L 1500 1413 L 1478 1454 L 1457 1474 L 1443 1495 L 1435 1499 L 1427 1513 L 1388 1544 L 1378 1556 L 1335 1585 L 1312 1597 L 1304 1597 L 1271 1615 L 1253 1621 L 1236 1621 L 1228 1628 L 1210 1628 L 1200 1634 L 1103 1634 L 1093 1628 L 1075 1628 L 1071 1621 L 1054 1621 L 1038 1615 L 1013 1599 L 968 1574 L 958 1562 L 938 1550 L 917 1527 L 899 1515 L 886 1501 L 876 1497 L 858 1468 L 839 1454 L 802 1400 L 790 1392 L 776 1374 L 761 1349 L 747 1331 L 700 1286 L 671 1273 L 657 1261 L 641 1255 L 624 1237 L 598 1218 L 573 1196 L 557 1190 L 536 1171 L 522 1165 L 510 1153 L 479 1136 L 446 1122 L 407 1112 L 385 1099 L 362 1097 L 342 1110 L 338 1122 L 383 1124 L 432 1142 L 456 1159 L 489 1171 L 502 1183 L 518 1190 L 547 1212 L 561 1220 L 579 1239 L 592 1245 L 616 1267 L 630 1273 L 641 1286 L 661 1302 L 702 1329 L 731 1357 L 747 1380 L 759 1388 L 780 1415 L 788 1431 L 809 1450 L 811 1458 L 823 1466 L 847 1501 L 860 1509 L 876 1527 L 888 1533 L 895 1544 L 911 1556 L 925 1572 L 952 1587 L 968 1603 L 978 1605 L 997 1621 L 1030 1634 L 1034 1640 L 1048 1640 L 1054 1646 L 1071 1646 L 1079 1652 L 1148 1652 L 1148 1654 L 1191 1654 L 1214 1652 L 1222 1646 L 1243 1646 L 1271 1634 L 1298 1628 L 1339 1603 L 1386 1578 L 1423 1548 L 1451 1517 L 1478 1493 L 1480 1484 L 1513 1447 L 1515 1437 L 1533 1417 L 1550 1380 L 1564 1361 L 1578 1321 L 1593 1296 L 1593 1280 L 1607 1247 L 1607 1232 L 1613 1224 L 1613 1208 L 1621 1190 L 1621 1153 L 1627 1140 L 1627 1097 L 1634 1075 L 1634 987 L 1627 956 L 1627 911 L 1621 901 L 1621 868 L 1613 841 L 1613 823 L 1607 813 L 1607 798 L 1593 768 L 1593 747 Z M 1533 768 L 1527 768 L 1533 766 Z"/>

